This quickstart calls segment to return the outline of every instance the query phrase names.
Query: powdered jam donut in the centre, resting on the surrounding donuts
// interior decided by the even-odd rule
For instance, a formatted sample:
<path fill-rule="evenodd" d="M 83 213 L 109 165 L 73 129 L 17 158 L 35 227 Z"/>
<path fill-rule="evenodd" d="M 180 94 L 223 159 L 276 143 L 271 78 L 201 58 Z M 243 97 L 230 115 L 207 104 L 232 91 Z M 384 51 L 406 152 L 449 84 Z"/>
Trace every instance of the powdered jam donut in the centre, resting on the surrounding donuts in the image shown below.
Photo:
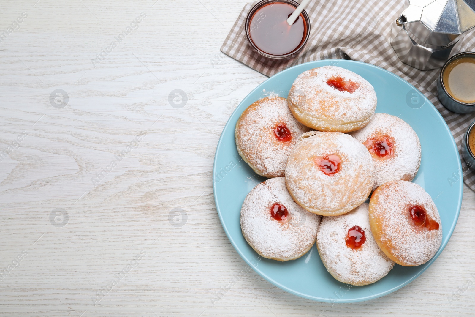
<path fill-rule="evenodd" d="M 368 198 L 373 161 L 363 144 L 340 132 L 308 132 L 300 139 L 285 168 L 295 202 L 310 212 L 337 216 Z"/>

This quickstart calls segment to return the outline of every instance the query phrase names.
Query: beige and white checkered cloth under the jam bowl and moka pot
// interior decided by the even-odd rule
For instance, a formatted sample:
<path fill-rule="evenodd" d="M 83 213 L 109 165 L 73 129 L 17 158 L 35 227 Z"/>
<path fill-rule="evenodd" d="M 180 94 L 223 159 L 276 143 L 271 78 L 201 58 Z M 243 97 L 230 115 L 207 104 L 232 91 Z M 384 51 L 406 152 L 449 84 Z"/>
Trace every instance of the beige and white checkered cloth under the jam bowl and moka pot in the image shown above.
<path fill-rule="evenodd" d="M 244 30 L 247 12 L 257 3 L 247 3 L 239 14 L 221 51 L 258 72 L 272 76 L 281 70 L 319 59 L 352 59 L 385 68 L 417 87 L 444 117 L 455 138 L 458 152 L 465 131 L 475 120 L 475 112 L 459 115 L 448 111 L 437 99 L 440 69 L 418 70 L 402 63 L 391 47 L 395 35 L 392 27 L 404 9 L 403 0 L 313 0 L 305 9 L 310 17 L 310 38 L 298 56 L 285 62 L 269 61 L 257 56 L 247 44 Z M 463 36 L 452 54 L 474 50 L 475 31 Z M 434 144 L 437 146 L 437 144 Z M 462 158 L 465 183 L 475 191 L 475 171 Z M 457 181 L 460 175 L 454 175 Z"/>

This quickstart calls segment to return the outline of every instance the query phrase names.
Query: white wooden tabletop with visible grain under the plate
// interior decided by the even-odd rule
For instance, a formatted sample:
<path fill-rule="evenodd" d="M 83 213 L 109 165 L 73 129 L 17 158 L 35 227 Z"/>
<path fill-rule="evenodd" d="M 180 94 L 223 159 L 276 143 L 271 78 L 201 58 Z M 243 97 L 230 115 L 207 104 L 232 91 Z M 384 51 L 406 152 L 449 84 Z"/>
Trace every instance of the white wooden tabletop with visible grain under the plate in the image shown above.
<path fill-rule="evenodd" d="M 245 2 L 1 1 L 0 316 L 473 316 L 467 187 L 441 256 L 388 296 L 332 306 L 251 270 L 212 300 L 246 268 L 211 181 L 266 79 L 219 52 Z"/>

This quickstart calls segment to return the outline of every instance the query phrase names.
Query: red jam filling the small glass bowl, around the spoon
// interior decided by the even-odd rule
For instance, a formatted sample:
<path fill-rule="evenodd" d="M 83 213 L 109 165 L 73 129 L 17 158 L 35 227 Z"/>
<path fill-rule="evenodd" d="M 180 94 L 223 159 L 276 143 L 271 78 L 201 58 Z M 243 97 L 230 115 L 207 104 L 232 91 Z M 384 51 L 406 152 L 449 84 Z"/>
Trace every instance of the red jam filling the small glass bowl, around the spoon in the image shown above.
<path fill-rule="evenodd" d="M 257 9 L 248 25 L 252 43 L 272 56 L 287 55 L 299 48 L 305 41 L 307 25 L 302 13 L 294 24 L 287 23 L 295 9 L 285 1 L 270 2 Z"/>

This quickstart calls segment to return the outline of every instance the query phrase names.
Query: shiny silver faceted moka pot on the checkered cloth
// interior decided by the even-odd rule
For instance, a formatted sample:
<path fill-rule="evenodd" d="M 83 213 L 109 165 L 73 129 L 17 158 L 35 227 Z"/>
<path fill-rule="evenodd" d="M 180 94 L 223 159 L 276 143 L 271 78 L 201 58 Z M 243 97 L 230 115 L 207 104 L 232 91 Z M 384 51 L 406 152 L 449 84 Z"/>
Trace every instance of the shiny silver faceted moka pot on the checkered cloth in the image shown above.
<path fill-rule="evenodd" d="M 421 70 L 442 67 L 458 36 L 475 27 L 475 0 L 405 0 L 391 45 L 399 59 Z"/>

